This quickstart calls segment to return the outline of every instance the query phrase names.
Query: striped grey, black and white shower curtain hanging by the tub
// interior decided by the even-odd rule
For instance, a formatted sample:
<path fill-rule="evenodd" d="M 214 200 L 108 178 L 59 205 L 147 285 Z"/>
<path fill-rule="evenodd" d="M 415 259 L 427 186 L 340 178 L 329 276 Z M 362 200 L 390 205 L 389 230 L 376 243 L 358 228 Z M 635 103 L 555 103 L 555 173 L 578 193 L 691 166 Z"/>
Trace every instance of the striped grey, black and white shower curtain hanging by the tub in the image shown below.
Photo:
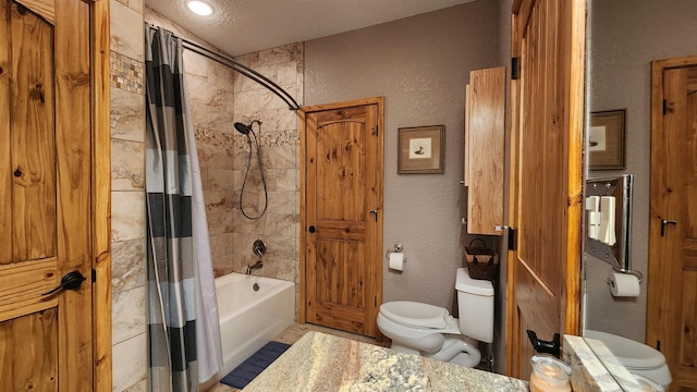
<path fill-rule="evenodd" d="M 196 391 L 222 364 L 182 42 L 146 27 L 150 391 Z"/>

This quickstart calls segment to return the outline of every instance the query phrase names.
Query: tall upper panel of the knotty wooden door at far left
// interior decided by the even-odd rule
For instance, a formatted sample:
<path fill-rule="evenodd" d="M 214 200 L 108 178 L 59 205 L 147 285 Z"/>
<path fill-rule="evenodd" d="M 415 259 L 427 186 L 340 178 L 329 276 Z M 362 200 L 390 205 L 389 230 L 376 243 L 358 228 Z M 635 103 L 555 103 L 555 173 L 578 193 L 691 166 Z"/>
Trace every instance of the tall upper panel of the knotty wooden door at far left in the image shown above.
<path fill-rule="evenodd" d="M 0 61 L 11 61 L 14 240 L 12 259 L 0 264 L 56 256 L 53 26 L 15 4 L 9 29 L 10 59 Z"/>

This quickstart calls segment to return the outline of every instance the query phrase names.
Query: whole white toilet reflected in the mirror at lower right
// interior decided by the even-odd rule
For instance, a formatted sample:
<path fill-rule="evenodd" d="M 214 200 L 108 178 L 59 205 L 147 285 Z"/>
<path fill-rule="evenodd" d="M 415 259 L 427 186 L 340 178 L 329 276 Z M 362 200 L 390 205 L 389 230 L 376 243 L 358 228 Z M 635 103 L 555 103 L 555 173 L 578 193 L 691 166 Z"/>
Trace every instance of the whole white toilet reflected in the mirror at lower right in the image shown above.
<path fill-rule="evenodd" d="M 586 330 L 584 336 L 604 343 L 631 373 L 652 380 L 665 390 L 673 381 L 665 357 L 658 350 L 607 332 Z"/>

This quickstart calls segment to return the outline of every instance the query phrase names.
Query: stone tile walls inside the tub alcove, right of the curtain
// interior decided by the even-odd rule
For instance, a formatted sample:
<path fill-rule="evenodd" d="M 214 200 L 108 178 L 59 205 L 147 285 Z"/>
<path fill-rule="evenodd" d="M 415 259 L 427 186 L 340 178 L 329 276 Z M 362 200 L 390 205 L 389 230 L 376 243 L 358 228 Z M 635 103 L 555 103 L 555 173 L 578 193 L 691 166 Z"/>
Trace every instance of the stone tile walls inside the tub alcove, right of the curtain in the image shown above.
<path fill-rule="evenodd" d="M 145 20 L 175 35 L 203 42 L 163 15 L 146 8 Z M 303 45 L 245 54 L 235 59 L 261 73 L 302 103 Z M 196 132 L 208 230 L 216 275 L 244 272 L 257 260 L 255 240 L 267 244 L 264 268 L 255 274 L 298 282 L 299 137 L 297 113 L 281 98 L 249 78 L 191 51 L 184 68 Z M 256 147 L 242 205 L 240 194 L 248 163 L 249 146 L 234 122 L 254 124 L 258 136 L 268 200 L 259 172 Z M 253 139 L 254 140 L 254 139 Z M 297 306 L 296 306 L 297 308 Z"/>

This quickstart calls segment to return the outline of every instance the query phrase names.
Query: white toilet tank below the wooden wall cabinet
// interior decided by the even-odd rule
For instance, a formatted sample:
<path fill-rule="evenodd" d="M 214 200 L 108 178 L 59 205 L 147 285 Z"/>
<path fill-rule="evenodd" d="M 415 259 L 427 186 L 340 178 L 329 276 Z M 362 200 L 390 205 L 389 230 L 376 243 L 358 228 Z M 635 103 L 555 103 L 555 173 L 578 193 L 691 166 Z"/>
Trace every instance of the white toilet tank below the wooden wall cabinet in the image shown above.
<path fill-rule="evenodd" d="M 455 279 L 460 332 L 480 342 L 493 342 L 493 285 L 487 280 L 469 278 L 466 268 L 457 269 Z"/>

